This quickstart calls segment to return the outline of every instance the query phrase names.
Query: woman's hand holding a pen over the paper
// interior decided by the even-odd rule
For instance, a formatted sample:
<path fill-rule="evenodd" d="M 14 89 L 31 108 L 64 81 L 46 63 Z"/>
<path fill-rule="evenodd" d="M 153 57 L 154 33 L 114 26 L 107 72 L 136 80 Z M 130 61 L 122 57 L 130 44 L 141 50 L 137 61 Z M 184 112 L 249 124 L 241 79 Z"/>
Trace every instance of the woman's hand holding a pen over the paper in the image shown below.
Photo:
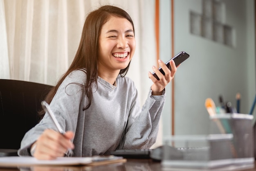
<path fill-rule="evenodd" d="M 74 149 L 74 144 L 71 142 L 73 138 L 74 133 L 71 131 L 63 135 L 52 129 L 46 129 L 31 146 L 32 149 L 36 145 L 33 156 L 38 160 L 53 160 L 62 157 L 68 149 Z"/>

